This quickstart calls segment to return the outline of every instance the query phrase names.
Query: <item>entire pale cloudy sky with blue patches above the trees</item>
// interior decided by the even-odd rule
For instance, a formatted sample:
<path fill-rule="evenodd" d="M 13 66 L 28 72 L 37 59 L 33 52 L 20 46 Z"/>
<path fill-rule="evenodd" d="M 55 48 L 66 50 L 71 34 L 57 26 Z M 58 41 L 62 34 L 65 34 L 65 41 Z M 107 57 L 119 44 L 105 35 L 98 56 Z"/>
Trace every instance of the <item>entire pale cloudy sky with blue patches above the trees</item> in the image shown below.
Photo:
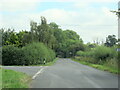
<path fill-rule="evenodd" d="M 118 37 L 118 18 L 110 10 L 118 9 L 118 0 L 0 0 L 0 28 L 30 30 L 30 21 L 55 22 L 70 29 L 84 43 L 104 41 L 108 35 Z"/>

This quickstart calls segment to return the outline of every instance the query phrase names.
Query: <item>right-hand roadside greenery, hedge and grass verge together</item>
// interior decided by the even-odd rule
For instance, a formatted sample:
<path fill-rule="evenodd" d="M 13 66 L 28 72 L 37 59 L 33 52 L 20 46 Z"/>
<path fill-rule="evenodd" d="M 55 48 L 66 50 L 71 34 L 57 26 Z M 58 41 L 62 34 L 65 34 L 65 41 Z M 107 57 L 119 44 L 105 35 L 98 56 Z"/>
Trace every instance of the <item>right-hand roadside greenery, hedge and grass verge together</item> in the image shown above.
<path fill-rule="evenodd" d="M 89 51 L 78 51 L 75 59 L 82 64 L 118 73 L 118 51 L 117 47 L 97 46 Z"/>

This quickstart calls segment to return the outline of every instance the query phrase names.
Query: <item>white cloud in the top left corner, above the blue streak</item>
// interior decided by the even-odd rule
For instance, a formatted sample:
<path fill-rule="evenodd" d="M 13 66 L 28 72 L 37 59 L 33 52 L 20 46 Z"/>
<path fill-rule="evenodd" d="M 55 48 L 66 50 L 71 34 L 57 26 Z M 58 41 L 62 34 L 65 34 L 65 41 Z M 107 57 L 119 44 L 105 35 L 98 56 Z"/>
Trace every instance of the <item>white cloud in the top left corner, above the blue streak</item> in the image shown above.
<path fill-rule="evenodd" d="M 1 11 L 25 11 L 34 9 L 39 0 L 1 0 Z"/>

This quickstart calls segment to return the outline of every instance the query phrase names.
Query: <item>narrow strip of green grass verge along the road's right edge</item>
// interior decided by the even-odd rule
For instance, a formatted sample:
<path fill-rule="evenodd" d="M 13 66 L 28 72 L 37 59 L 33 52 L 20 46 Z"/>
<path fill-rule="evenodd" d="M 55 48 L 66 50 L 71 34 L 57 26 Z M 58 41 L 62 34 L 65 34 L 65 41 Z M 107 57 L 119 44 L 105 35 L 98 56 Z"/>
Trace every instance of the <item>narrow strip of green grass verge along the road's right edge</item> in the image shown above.
<path fill-rule="evenodd" d="M 82 60 L 76 60 L 76 59 L 72 59 L 72 60 L 76 61 L 78 63 L 84 64 L 84 65 L 88 65 L 90 67 L 99 69 L 99 70 L 108 71 L 108 72 L 111 72 L 111 73 L 114 73 L 114 74 L 118 74 L 118 69 L 113 68 L 113 67 L 109 67 L 109 66 L 105 66 L 105 65 L 99 65 L 99 64 L 92 64 L 92 63 L 85 62 L 85 61 L 82 61 Z"/>

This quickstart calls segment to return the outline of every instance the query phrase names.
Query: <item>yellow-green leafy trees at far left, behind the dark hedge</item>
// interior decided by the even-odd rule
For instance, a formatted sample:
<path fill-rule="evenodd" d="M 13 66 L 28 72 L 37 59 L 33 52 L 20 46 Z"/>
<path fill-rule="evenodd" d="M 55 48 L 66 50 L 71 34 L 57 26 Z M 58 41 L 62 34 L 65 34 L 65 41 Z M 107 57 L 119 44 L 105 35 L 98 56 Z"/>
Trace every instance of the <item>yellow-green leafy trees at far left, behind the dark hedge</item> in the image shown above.
<path fill-rule="evenodd" d="M 4 45 L 14 45 L 17 47 L 23 47 L 25 46 L 24 40 L 26 37 L 24 35 L 27 33 L 27 31 L 20 31 L 19 33 L 15 32 L 14 29 L 8 29 L 0 30 L 2 32 L 2 46 Z M 26 40 L 27 42 L 31 40 L 30 37 Z"/>

